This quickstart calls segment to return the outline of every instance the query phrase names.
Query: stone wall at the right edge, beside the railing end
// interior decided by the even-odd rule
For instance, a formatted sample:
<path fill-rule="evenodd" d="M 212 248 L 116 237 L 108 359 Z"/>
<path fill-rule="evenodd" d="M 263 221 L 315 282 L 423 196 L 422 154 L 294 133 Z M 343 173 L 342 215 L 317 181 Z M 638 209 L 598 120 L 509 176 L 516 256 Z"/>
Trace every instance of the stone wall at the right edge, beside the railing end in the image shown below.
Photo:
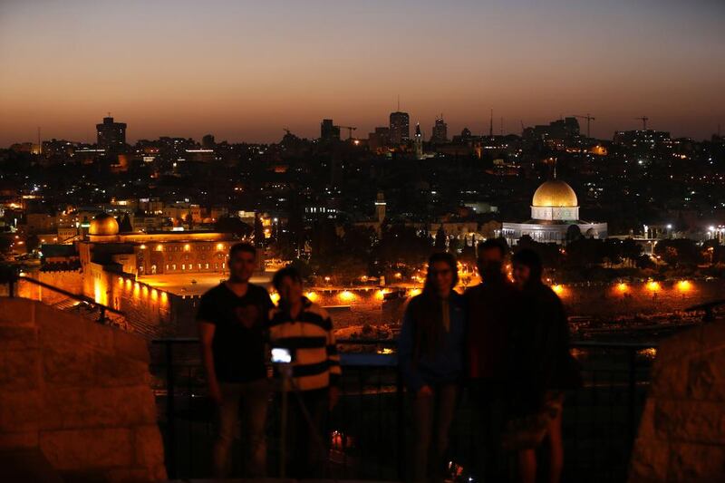
<path fill-rule="evenodd" d="M 629 480 L 725 481 L 725 321 L 660 345 Z"/>

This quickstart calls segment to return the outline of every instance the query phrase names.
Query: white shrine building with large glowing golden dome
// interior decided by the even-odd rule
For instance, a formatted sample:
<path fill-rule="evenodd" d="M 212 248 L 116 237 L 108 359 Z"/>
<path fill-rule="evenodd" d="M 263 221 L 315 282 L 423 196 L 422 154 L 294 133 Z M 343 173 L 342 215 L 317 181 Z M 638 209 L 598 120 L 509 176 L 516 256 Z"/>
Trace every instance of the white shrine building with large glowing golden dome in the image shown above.
<path fill-rule="evenodd" d="M 504 222 L 501 236 L 509 245 L 529 236 L 540 243 L 563 244 L 567 238 L 606 238 L 607 224 L 579 219 L 576 193 L 560 179 L 546 181 L 536 189 L 531 201 L 531 219 L 524 223 Z"/>

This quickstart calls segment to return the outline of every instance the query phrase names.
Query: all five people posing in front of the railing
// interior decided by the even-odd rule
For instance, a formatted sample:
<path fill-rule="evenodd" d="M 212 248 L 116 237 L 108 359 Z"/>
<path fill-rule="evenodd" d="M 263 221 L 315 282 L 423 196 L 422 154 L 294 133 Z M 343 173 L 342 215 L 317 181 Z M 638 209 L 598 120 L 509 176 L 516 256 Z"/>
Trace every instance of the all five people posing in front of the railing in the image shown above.
<path fill-rule="evenodd" d="M 569 353 L 568 326 L 558 296 L 541 281 L 541 260 L 530 250 L 512 258 L 496 241 L 478 246 L 481 284 L 459 295 L 454 256 L 430 256 L 420 295 L 406 307 L 398 359 L 411 395 L 415 431 L 411 478 L 441 480 L 449 430 L 462 389 L 476 408 L 481 435 L 478 474 L 486 481 L 536 481 L 536 449 L 548 440 L 548 480 L 561 474 L 563 391 L 580 375 Z M 279 270 L 273 304 L 249 279 L 254 246 L 229 251 L 229 277 L 201 297 L 198 327 L 208 394 L 218 409 L 213 449 L 215 477 L 230 472 L 229 452 L 241 429 L 244 475 L 266 476 L 266 416 L 270 395 L 283 394 L 280 476 L 325 476 L 326 420 L 339 398 L 340 358 L 333 324 L 323 307 L 304 297 L 292 267 Z M 270 377 L 270 348 L 290 359 Z M 240 415 L 243 418 L 240 424 Z M 515 458 L 510 458 L 515 457 Z M 517 465 L 507 464 L 515 459 Z M 514 467 L 512 469 L 512 467 Z"/>

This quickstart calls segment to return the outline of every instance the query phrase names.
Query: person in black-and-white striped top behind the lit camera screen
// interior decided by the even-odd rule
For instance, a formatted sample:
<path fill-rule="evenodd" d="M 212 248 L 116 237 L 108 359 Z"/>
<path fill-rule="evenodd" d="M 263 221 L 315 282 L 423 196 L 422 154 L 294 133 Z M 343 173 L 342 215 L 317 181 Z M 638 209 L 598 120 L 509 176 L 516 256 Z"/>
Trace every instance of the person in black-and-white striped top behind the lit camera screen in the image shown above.
<path fill-rule="evenodd" d="M 337 402 L 340 356 L 330 315 L 303 295 L 302 277 L 293 267 L 279 270 L 273 280 L 279 306 L 269 314 L 269 342 L 292 353 L 296 395 L 288 396 L 287 475 L 323 478 L 327 416 Z M 298 396 L 298 397 L 297 397 Z M 304 415 L 308 411 L 310 420 Z"/>

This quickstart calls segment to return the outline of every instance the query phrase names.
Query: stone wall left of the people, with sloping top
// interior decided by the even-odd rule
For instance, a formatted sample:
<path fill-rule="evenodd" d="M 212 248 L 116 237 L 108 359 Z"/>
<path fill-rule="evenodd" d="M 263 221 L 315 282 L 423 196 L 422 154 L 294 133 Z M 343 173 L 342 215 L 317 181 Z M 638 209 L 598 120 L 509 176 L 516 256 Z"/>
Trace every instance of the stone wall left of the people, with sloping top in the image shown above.
<path fill-rule="evenodd" d="M 139 337 L 0 299 L 0 450 L 37 448 L 65 481 L 166 478 Z"/>

